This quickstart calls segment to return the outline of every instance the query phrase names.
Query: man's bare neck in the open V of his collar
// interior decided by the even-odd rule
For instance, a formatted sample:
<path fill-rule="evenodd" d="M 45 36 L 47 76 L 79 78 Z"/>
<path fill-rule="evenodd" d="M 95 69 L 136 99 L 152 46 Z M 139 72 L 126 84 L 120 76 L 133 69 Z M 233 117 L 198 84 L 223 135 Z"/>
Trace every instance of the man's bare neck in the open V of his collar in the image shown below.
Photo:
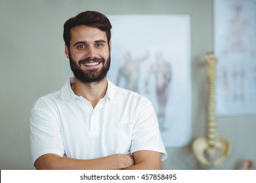
<path fill-rule="evenodd" d="M 100 82 L 91 83 L 83 83 L 75 78 L 75 82 L 71 84 L 71 88 L 75 95 L 87 99 L 93 108 L 95 108 L 98 101 L 104 97 L 107 87 L 108 80 L 106 77 Z"/>

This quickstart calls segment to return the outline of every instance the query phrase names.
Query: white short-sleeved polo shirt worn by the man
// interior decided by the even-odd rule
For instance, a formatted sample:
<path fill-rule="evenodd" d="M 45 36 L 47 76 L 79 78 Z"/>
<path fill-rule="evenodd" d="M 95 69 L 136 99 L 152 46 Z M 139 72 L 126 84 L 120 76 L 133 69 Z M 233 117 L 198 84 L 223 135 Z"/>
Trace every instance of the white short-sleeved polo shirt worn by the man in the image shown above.
<path fill-rule="evenodd" d="M 31 110 L 33 163 L 43 154 L 95 159 L 112 154 L 153 150 L 167 158 L 152 103 L 108 80 L 95 108 L 75 95 L 70 78 L 61 90 L 39 98 Z"/>

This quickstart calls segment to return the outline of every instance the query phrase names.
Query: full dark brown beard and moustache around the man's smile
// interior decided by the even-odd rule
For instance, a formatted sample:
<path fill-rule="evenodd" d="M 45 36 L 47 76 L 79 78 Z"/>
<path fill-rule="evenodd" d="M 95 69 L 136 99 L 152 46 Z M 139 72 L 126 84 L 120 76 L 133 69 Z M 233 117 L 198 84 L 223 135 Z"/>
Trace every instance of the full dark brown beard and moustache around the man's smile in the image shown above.
<path fill-rule="evenodd" d="M 77 80 L 79 80 L 84 84 L 89 84 L 91 82 L 101 82 L 106 77 L 106 74 L 110 69 L 110 54 L 107 59 L 104 59 L 104 58 L 81 59 L 78 61 L 78 65 L 72 58 L 71 54 L 69 55 L 70 55 L 70 68 L 75 78 L 77 78 Z M 86 63 L 89 61 L 98 61 L 102 63 L 103 66 L 100 69 L 89 69 L 87 71 L 83 71 L 83 69 L 81 69 L 81 66 L 83 65 L 83 63 Z"/>

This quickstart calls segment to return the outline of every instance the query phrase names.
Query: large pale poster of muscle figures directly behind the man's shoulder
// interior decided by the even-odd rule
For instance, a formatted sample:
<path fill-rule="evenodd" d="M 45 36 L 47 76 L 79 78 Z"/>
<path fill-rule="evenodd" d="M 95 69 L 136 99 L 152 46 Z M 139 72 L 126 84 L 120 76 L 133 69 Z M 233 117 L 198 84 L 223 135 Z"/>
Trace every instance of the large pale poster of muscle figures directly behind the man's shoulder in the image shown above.
<path fill-rule="evenodd" d="M 166 147 L 191 140 L 190 17 L 109 15 L 111 69 L 117 86 L 146 96 L 154 105 Z"/>

